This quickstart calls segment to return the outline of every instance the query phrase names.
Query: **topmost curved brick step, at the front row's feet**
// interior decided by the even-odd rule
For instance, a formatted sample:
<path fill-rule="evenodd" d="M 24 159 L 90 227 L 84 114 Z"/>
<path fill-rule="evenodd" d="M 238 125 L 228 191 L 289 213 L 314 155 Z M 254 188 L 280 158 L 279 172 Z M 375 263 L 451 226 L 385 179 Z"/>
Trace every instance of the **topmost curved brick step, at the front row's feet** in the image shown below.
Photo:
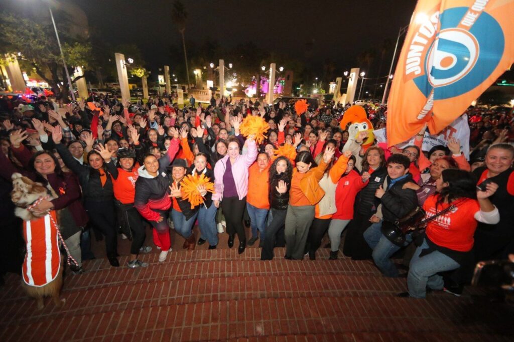
<path fill-rule="evenodd" d="M 367 275 L 380 277 L 375 266 L 368 261 L 351 260 L 224 260 L 224 261 L 191 261 L 163 263 L 152 262 L 152 255 L 146 255 L 151 262 L 147 268 L 136 270 L 126 267 L 110 267 L 97 271 L 87 271 L 79 276 L 65 277 L 64 290 L 98 289 L 121 284 L 136 284 L 140 282 L 177 281 L 186 279 L 220 278 L 236 276 L 281 276 L 287 275 Z M 156 258 L 156 257 L 155 257 Z M 145 260 L 147 261 L 147 260 Z M 85 265 L 87 267 L 87 265 Z M 89 269 L 88 269 L 89 270 Z M 19 277 L 12 275 L 6 291 L 0 301 L 25 297 L 19 286 Z M 14 280 L 16 279 L 16 280 Z"/>

